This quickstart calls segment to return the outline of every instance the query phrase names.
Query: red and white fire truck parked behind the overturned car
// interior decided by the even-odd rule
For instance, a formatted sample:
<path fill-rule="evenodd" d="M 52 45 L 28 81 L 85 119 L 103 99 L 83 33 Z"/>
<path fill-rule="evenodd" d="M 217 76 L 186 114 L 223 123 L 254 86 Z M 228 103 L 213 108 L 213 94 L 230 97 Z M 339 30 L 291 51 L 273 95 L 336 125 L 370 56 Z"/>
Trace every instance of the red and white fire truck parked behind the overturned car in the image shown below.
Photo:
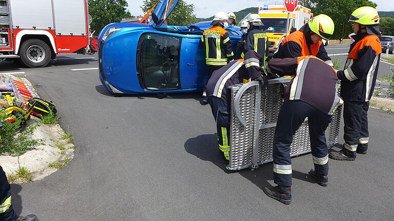
<path fill-rule="evenodd" d="M 92 54 L 88 0 L 0 0 L 0 59 L 44 67 L 57 54 Z"/>

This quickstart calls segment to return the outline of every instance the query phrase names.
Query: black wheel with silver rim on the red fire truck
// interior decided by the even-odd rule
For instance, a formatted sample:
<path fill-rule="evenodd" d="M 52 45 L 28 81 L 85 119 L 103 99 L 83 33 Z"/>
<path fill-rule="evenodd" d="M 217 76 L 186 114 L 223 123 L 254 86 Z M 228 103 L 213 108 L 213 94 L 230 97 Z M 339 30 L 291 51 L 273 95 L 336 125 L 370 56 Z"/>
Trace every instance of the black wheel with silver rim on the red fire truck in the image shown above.
<path fill-rule="evenodd" d="M 29 68 L 45 67 L 51 59 L 51 49 L 40 39 L 29 39 L 22 43 L 19 56 Z"/>

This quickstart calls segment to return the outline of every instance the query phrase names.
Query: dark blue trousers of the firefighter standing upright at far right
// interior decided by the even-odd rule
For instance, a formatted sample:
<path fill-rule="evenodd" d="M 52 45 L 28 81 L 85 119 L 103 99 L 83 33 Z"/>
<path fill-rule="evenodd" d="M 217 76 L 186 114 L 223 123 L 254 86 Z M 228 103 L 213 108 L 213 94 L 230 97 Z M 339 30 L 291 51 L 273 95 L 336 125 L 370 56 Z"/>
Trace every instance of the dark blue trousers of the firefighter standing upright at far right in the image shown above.
<path fill-rule="evenodd" d="M 343 151 L 348 156 L 356 156 L 357 148 L 368 148 L 368 108 L 369 101 L 345 101 L 343 104 Z"/>

